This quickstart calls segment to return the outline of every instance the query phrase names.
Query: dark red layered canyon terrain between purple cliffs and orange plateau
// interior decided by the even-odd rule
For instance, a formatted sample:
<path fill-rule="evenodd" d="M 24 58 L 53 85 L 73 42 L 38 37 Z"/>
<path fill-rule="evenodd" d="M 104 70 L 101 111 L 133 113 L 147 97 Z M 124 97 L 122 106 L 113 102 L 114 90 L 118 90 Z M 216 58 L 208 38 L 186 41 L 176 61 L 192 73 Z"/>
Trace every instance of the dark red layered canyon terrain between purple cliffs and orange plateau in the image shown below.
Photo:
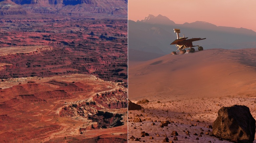
<path fill-rule="evenodd" d="M 2 66 L 2 79 L 91 73 L 104 80 L 127 82 L 125 20 L 6 18 L 1 19 L 0 28 L 0 63 L 12 64 Z M 48 48 L 26 49 L 39 45 Z M 10 47 L 17 52 L 7 51 Z"/>

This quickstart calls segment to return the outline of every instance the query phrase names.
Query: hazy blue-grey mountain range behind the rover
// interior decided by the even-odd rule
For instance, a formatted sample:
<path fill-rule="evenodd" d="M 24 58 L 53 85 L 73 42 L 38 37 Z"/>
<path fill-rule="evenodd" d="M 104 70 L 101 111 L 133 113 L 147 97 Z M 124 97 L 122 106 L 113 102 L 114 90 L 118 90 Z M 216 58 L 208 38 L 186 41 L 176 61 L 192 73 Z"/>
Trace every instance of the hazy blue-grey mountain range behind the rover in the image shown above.
<path fill-rule="evenodd" d="M 157 55 L 170 54 L 172 51 L 177 50 L 175 45 L 170 45 L 171 42 L 177 39 L 176 33 L 173 31 L 174 28 L 181 29 L 181 37 L 184 34 L 188 38 L 206 38 L 206 40 L 193 42 L 194 45 L 203 46 L 204 49 L 256 47 L 256 32 L 250 29 L 216 26 L 202 21 L 175 24 L 165 16 L 148 15 L 141 21 L 128 21 L 128 48 L 139 50 L 141 54 L 143 52 L 156 53 Z M 129 60 L 133 60 L 130 56 L 134 57 L 134 55 L 129 54 Z M 140 61 L 146 60 L 136 59 L 140 59 Z"/>

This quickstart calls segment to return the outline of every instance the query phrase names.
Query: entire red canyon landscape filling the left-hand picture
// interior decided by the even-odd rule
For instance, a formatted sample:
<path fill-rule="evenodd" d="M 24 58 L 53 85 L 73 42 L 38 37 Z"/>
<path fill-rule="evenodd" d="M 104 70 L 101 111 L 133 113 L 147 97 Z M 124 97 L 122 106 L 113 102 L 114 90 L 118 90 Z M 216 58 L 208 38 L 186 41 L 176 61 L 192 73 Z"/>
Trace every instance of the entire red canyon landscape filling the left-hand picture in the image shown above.
<path fill-rule="evenodd" d="M 18 2 L 0 2 L 0 141 L 127 142 L 127 2 Z"/>

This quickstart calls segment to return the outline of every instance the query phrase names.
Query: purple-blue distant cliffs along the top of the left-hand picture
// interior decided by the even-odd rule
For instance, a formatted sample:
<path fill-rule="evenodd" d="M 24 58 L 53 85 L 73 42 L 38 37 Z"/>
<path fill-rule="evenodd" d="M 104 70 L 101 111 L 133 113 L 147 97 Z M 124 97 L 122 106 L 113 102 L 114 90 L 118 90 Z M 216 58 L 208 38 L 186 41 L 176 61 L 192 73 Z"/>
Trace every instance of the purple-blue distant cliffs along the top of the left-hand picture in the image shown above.
<path fill-rule="evenodd" d="M 127 0 L 0 0 L 0 15 L 28 13 L 127 17 Z"/>

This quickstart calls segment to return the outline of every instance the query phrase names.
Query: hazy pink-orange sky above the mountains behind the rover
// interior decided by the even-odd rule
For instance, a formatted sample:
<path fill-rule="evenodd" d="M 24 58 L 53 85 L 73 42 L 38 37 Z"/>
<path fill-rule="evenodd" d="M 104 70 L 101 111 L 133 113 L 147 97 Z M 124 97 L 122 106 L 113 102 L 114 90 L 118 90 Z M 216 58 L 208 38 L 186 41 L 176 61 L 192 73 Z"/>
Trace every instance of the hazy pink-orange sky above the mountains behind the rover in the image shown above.
<path fill-rule="evenodd" d="M 176 24 L 204 21 L 256 32 L 256 0 L 128 0 L 129 20 L 148 14 L 161 14 Z"/>

